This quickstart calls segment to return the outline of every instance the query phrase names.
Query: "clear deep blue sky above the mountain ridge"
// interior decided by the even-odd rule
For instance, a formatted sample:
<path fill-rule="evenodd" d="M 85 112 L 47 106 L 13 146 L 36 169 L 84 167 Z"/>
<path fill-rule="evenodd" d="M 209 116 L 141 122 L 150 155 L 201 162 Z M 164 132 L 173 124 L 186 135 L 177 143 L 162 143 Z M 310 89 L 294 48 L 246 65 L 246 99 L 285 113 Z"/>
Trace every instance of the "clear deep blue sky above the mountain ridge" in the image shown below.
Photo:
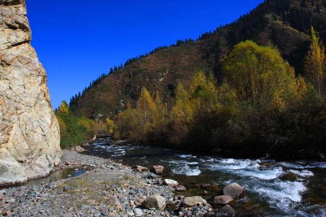
<path fill-rule="evenodd" d="M 26 0 L 32 46 L 53 109 L 128 58 L 178 39 L 196 40 L 263 0 Z"/>

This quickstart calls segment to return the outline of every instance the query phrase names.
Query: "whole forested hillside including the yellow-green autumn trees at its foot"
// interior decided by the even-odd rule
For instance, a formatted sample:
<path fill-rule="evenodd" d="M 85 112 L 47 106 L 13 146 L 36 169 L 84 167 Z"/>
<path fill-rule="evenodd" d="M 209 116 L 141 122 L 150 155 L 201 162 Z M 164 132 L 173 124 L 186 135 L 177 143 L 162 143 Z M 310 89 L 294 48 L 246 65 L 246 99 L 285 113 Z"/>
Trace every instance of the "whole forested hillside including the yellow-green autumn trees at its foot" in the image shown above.
<path fill-rule="evenodd" d="M 112 119 L 117 137 L 135 142 L 258 155 L 323 152 L 325 7 L 266 0 L 196 40 L 111 68 L 73 96 L 69 110 Z"/>

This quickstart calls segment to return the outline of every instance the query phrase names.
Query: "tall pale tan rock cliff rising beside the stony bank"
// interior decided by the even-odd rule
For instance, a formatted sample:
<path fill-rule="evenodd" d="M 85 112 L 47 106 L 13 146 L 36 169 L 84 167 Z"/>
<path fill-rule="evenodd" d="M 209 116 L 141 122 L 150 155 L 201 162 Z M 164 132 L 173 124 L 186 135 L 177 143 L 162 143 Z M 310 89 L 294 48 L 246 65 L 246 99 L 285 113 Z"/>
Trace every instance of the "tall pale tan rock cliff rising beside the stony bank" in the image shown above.
<path fill-rule="evenodd" d="M 59 124 L 31 46 L 25 0 L 0 0 L 0 186 L 46 176 L 60 162 Z"/>

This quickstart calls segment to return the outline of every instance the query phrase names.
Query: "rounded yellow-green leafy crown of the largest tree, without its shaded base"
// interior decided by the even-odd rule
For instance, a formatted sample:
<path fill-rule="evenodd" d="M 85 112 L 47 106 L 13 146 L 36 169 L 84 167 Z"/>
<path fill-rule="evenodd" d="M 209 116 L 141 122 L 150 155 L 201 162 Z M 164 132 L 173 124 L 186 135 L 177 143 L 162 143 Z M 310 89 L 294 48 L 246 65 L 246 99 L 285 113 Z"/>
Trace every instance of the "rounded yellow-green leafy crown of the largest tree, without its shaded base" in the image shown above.
<path fill-rule="evenodd" d="M 280 53 L 252 41 L 237 44 L 222 60 L 227 83 L 257 111 L 273 105 L 293 77 Z"/>

